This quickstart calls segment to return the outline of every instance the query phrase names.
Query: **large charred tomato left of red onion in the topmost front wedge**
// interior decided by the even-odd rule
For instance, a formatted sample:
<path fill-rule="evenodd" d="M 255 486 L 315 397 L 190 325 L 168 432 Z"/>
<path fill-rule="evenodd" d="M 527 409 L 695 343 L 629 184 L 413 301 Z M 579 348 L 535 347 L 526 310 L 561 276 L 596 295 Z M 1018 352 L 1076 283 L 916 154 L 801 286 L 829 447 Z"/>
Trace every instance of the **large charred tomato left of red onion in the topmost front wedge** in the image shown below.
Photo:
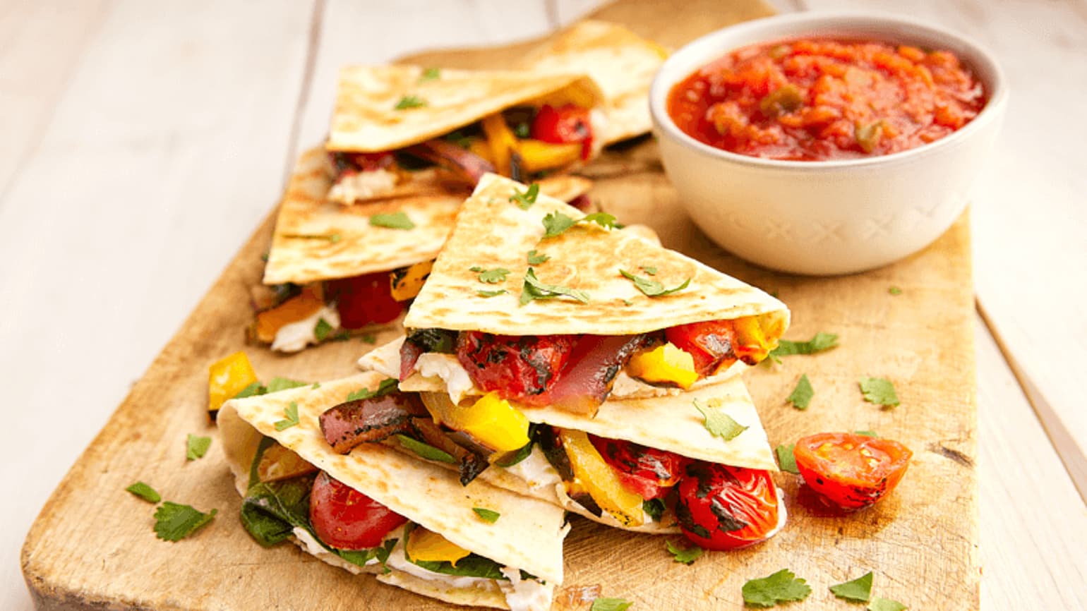
<path fill-rule="evenodd" d="M 577 344 L 575 335 L 509 336 L 463 332 L 457 360 L 472 382 L 503 399 L 540 395 L 562 371 Z"/>

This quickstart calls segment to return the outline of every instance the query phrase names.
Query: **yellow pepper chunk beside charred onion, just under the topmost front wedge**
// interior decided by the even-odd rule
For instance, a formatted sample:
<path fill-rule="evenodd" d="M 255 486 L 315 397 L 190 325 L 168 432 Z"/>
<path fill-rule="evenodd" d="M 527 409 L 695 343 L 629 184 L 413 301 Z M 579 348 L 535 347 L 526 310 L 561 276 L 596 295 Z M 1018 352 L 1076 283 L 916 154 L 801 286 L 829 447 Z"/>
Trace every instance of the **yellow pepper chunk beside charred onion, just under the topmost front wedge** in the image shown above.
<path fill-rule="evenodd" d="M 497 392 L 471 406 L 454 404 L 442 392 L 424 392 L 422 399 L 436 422 L 463 431 L 492 450 L 512 452 L 528 442 L 528 417 Z"/>

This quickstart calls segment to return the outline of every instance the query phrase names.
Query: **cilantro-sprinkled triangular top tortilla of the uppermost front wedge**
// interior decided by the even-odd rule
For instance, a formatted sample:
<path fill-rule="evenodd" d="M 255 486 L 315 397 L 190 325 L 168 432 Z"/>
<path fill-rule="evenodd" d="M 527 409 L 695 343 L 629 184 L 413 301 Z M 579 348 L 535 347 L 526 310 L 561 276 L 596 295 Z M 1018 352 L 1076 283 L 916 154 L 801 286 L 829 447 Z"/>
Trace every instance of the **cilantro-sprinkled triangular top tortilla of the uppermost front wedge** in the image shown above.
<path fill-rule="evenodd" d="M 527 209 L 510 201 L 511 196 L 526 189 L 495 174 L 480 179 L 461 207 L 446 247 L 408 310 L 405 328 L 500 335 L 628 335 L 685 323 L 759 316 L 767 338 L 776 340 L 788 326 L 789 310 L 777 299 L 636 235 L 587 222 L 544 238 L 542 221 L 548 214 L 574 220 L 585 215 L 545 195 Z M 522 306 L 529 250 L 550 257 L 534 266 L 540 283 L 584 291 L 588 302 L 558 297 Z M 647 266 L 655 274 L 650 276 Z M 510 273 L 502 283 L 485 285 L 472 267 L 502 267 Z M 649 297 L 621 270 L 667 288 L 690 283 L 672 295 Z M 479 289 L 507 292 L 483 297 Z"/>

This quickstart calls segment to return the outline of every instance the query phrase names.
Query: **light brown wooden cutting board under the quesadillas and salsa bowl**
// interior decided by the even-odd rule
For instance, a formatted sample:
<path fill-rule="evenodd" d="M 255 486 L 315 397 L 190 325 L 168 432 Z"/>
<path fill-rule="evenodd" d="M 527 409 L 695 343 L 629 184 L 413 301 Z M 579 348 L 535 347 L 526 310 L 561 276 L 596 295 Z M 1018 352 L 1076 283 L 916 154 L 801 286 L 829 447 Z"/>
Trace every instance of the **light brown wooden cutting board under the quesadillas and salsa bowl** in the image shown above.
<path fill-rule="evenodd" d="M 678 47 L 710 30 L 770 14 L 758 0 L 625 0 L 592 16 L 623 23 Z M 530 45 L 428 53 L 426 65 L 497 67 Z M 860 275 L 807 278 L 760 270 L 730 257 L 682 212 L 652 139 L 609 151 L 585 171 L 592 198 L 625 223 L 646 223 L 665 246 L 776 292 L 792 309 L 787 337 L 836 333 L 840 347 L 759 366 L 746 379 L 771 442 L 790 444 L 823 431 L 871 429 L 914 451 L 904 481 L 880 504 L 828 515 L 780 474 L 786 528 L 737 552 L 708 552 L 687 566 L 673 562 L 664 538 L 573 519 L 565 544 L 566 578 L 555 609 L 588 609 L 596 596 L 634 601 L 632 609 L 741 609 L 745 581 L 788 568 L 812 586 L 796 609 L 858 609 L 827 586 L 875 573 L 873 594 L 911 609 L 976 609 L 976 400 L 970 233 L 965 216 L 927 250 Z M 222 456 L 185 460 L 189 433 L 214 434 L 204 415 L 208 365 L 246 349 L 264 379 L 328 379 L 350 374 L 370 345 L 352 339 L 296 356 L 247 347 L 247 287 L 259 282 L 272 232 L 270 216 L 203 298 L 182 329 L 72 467 L 34 523 L 23 572 L 39 609 L 203 610 L 448 609 L 447 604 L 370 576 L 352 576 L 290 545 L 263 549 L 242 529 Z M 891 286 L 901 288 L 891 295 Z M 396 335 L 378 334 L 377 341 Z M 815 397 L 807 411 L 786 403 L 801 374 Z M 862 400 L 861 376 L 891 379 L 901 406 Z M 124 488 L 136 481 L 166 500 L 215 508 L 214 522 L 191 538 L 155 539 L 152 506 Z"/>

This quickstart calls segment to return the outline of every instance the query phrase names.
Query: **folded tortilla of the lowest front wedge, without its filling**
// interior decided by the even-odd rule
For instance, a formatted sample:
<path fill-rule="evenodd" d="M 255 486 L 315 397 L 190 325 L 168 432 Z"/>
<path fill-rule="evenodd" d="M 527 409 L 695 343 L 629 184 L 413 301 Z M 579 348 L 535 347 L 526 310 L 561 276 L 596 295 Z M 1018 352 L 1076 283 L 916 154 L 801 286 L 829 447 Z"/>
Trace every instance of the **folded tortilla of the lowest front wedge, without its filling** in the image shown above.
<path fill-rule="evenodd" d="M 246 492 L 261 436 L 272 437 L 334 478 L 453 544 L 501 565 L 523 569 L 548 584 L 562 583 L 562 540 L 569 526 L 563 525 L 563 511 L 557 506 L 486 482 L 461 486 L 454 472 L 379 444 L 363 444 L 348 454 L 333 451 L 317 416 L 343 402 L 352 391 L 376 389 L 383 379 L 380 374 L 363 373 L 322 383 L 318 388 L 303 386 L 227 401 L 218 413 L 218 427 L 239 492 Z M 284 420 L 291 404 L 298 407 L 299 424 L 277 431 L 275 423 Z M 501 518 L 485 522 L 473 508 L 497 511 Z M 436 596 L 430 589 L 450 589 L 434 584 L 428 585 L 430 589 L 423 588 L 417 581 L 404 576 L 393 583 L 428 596 Z M 452 590 L 458 602 L 504 607 L 504 600 L 480 599 L 480 593 L 473 588 Z"/>

